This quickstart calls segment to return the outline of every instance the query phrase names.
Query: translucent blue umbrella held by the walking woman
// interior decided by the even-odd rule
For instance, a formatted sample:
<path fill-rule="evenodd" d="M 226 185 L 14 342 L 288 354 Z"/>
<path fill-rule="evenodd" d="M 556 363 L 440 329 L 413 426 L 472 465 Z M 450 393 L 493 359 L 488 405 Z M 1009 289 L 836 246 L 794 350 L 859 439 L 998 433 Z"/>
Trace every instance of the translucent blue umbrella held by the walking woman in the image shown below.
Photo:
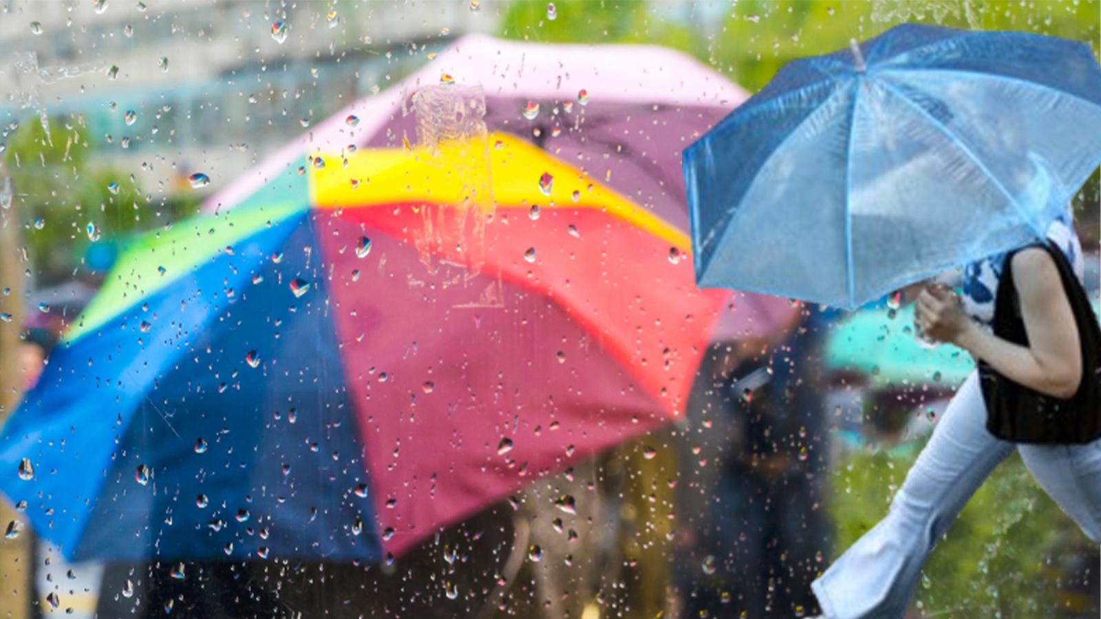
<path fill-rule="evenodd" d="M 855 307 L 1043 237 L 1099 163 L 1089 45 L 903 24 L 789 63 L 685 151 L 696 276 Z"/>

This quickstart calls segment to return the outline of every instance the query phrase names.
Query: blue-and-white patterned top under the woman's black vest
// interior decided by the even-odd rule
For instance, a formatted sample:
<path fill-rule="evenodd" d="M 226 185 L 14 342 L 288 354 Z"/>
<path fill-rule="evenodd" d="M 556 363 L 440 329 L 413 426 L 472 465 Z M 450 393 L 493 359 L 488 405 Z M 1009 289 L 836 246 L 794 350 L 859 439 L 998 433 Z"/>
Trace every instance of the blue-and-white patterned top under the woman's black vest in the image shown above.
<path fill-rule="evenodd" d="M 1047 228 L 1047 238 L 1062 250 L 1075 274 L 1082 279 L 1082 246 L 1075 232 L 1070 209 Z M 986 328 L 994 324 L 994 295 L 1002 276 L 1006 252 L 977 260 L 963 268 L 963 310 Z"/>

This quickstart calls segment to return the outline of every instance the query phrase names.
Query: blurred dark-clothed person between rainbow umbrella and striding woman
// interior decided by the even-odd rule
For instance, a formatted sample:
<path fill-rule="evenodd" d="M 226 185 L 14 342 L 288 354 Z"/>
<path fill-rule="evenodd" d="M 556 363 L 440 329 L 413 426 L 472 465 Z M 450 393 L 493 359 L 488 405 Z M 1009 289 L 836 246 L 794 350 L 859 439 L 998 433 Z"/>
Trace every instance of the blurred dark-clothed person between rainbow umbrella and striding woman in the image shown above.
<path fill-rule="evenodd" d="M 778 337 L 713 344 L 682 458 L 679 588 L 686 617 L 799 617 L 829 546 L 821 347 L 804 308 Z"/>

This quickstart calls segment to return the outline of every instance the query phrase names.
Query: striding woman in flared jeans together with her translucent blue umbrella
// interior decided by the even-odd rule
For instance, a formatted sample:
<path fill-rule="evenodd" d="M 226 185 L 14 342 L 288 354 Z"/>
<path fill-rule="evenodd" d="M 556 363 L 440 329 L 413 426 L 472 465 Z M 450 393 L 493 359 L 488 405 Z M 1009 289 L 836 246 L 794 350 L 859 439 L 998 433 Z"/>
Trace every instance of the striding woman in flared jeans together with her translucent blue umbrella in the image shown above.
<path fill-rule="evenodd" d="M 903 617 L 1014 448 L 1101 541 L 1101 336 L 1067 207 L 1099 134 L 1088 45 L 904 24 L 788 64 L 685 152 L 700 285 L 849 308 L 920 290 L 925 337 L 979 361 L 890 513 L 813 584 L 825 617 Z M 961 296 L 925 283 L 959 265 Z"/>

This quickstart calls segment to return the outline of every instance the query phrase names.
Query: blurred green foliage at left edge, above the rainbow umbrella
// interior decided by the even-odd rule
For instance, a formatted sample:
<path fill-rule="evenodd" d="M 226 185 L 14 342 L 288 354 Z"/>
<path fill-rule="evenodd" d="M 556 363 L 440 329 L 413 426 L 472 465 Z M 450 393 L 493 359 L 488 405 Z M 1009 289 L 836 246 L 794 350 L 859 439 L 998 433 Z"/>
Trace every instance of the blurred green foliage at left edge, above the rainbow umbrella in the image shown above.
<path fill-rule="evenodd" d="M 151 203 L 132 174 L 97 161 L 79 117 L 54 118 L 48 127 L 47 135 L 42 122 L 29 117 L 8 134 L 3 152 L 36 285 L 74 275 L 92 242 L 89 225 L 99 231 L 95 242 L 118 243 L 194 213 L 194 202 Z"/>

